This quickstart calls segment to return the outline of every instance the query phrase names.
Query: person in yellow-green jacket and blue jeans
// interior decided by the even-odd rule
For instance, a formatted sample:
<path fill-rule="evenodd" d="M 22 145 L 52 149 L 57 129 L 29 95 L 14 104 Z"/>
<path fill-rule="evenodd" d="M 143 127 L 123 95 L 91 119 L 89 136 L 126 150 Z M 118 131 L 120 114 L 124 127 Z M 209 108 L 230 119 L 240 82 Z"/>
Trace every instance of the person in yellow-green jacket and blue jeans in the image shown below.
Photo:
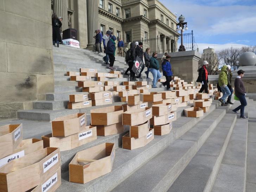
<path fill-rule="evenodd" d="M 219 99 L 219 101 L 221 102 L 221 106 L 227 106 L 227 104 L 225 104 L 226 102 L 226 98 L 231 94 L 229 88 L 228 88 L 228 66 L 224 65 L 221 68 L 221 72 L 219 73 L 219 87 L 223 93 L 222 98 Z"/>

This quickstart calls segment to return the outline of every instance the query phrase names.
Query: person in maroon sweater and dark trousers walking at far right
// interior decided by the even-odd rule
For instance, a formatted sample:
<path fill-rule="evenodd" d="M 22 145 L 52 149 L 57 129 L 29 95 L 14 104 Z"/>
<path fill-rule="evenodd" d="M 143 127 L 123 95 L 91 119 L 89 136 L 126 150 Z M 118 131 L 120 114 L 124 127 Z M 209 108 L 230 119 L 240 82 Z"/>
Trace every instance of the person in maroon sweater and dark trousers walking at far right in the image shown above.
<path fill-rule="evenodd" d="M 249 119 L 249 117 L 246 117 L 244 115 L 244 107 L 247 105 L 246 99 L 245 99 L 245 87 L 243 84 L 243 81 L 241 78 L 244 77 L 244 71 L 238 70 L 237 71 L 238 76 L 235 78 L 235 95 L 239 98 L 239 101 L 241 105 L 239 105 L 237 108 L 233 109 L 232 111 L 239 115 L 238 111 L 240 110 L 240 118 L 241 119 Z"/>

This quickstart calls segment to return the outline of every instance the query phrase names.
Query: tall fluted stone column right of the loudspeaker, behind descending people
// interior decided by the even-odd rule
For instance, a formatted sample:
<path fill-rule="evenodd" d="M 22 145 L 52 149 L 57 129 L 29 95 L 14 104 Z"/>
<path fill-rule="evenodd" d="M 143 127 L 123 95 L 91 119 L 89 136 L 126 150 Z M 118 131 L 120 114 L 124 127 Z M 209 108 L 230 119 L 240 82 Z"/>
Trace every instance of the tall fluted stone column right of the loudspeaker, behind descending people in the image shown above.
<path fill-rule="evenodd" d="M 92 50 L 95 43 L 95 30 L 99 29 L 98 26 L 98 1 L 87 1 L 87 24 L 88 24 L 88 45 L 86 49 Z"/>

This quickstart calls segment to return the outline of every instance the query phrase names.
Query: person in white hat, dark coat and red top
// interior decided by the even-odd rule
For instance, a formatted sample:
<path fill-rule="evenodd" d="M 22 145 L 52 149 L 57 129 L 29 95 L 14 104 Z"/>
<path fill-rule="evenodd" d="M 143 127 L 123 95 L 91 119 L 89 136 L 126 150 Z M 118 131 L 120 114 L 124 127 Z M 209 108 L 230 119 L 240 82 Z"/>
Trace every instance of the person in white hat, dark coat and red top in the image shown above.
<path fill-rule="evenodd" d="M 198 78 L 196 82 L 202 83 L 202 87 L 199 90 L 199 93 L 202 93 L 205 91 L 205 93 L 208 92 L 208 71 L 207 71 L 207 66 L 209 63 L 207 61 L 203 62 L 203 66 L 200 66 L 198 71 Z"/>

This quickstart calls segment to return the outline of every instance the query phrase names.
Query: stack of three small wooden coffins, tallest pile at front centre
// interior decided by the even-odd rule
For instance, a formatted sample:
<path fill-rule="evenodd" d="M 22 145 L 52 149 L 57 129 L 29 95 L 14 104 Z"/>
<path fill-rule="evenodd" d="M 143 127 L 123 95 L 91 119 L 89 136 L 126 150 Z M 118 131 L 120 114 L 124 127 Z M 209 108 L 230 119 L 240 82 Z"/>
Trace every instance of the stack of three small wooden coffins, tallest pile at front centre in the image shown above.
<path fill-rule="evenodd" d="M 130 132 L 122 137 L 124 149 L 144 147 L 154 139 L 154 129 L 150 128 L 151 118 L 152 108 L 148 107 L 123 113 L 123 125 L 130 126 Z"/>

